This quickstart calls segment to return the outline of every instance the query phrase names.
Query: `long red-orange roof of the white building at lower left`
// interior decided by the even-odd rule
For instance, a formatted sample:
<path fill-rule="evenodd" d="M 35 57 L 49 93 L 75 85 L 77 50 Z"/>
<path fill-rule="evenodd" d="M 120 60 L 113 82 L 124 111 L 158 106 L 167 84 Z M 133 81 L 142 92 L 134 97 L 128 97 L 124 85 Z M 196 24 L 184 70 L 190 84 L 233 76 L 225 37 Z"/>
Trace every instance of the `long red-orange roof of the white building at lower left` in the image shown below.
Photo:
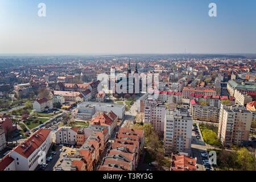
<path fill-rule="evenodd" d="M 43 142 L 47 139 L 51 130 L 39 129 L 33 135 L 31 135 L 23 143 L 19 144 L 13 151 L 28 158 L 37 148 L 39 148 Z"/>

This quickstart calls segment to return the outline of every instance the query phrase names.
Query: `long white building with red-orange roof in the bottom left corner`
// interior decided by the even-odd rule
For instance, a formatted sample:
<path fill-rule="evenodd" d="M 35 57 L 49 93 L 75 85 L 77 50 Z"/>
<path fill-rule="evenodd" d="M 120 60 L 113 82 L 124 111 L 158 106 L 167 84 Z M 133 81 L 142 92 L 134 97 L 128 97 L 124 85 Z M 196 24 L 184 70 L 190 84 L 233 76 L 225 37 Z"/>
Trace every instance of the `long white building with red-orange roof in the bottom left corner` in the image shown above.
<path fill-rule="evenodd" d="M 52 143 L 51 130 L 39 129 L 0 161 L 2 171 L 34 171 L 40 152 L 48 152 Z"/>

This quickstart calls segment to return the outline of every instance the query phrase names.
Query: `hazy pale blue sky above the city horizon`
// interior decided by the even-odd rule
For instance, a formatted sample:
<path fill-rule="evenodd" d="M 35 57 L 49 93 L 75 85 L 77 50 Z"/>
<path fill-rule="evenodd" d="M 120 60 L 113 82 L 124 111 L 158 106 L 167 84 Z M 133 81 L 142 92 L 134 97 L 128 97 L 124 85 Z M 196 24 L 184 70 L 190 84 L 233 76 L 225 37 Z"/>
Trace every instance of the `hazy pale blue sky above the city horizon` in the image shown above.
<path fill-rule="evenodd" d="M 46 17 L 38 4 L 46 3 Z M 217 4 L 210 18 L 208 5 Z M 0 53 L 256 53 L 256 1 L 0 0 Z"/>

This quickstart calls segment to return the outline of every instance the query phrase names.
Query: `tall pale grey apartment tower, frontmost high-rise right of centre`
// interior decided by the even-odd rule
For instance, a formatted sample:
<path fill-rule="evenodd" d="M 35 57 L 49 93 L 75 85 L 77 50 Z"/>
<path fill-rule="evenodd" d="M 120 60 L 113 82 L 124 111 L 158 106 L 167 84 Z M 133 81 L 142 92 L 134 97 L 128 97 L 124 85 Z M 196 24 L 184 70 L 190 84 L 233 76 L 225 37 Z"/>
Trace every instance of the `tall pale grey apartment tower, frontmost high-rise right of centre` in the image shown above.
<path fill-rule="evenodd" d="M 164 154 L 191 154 L 192 117 L 187 109 L 166 110 L 164 125 Z"/>

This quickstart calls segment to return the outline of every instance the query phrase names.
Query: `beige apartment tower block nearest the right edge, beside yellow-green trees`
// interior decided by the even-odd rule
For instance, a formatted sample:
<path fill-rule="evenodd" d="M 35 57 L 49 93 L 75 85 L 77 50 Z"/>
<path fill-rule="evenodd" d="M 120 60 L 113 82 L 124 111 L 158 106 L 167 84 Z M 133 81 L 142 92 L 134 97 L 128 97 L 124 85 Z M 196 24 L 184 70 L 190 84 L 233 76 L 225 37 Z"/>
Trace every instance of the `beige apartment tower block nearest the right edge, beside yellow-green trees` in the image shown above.
<path fill-rule="evenodd" d="M 225 147 L 242 145 L 249 140 L 253 114 L 244 106 L 221 105 L 218 138 Z"/>

